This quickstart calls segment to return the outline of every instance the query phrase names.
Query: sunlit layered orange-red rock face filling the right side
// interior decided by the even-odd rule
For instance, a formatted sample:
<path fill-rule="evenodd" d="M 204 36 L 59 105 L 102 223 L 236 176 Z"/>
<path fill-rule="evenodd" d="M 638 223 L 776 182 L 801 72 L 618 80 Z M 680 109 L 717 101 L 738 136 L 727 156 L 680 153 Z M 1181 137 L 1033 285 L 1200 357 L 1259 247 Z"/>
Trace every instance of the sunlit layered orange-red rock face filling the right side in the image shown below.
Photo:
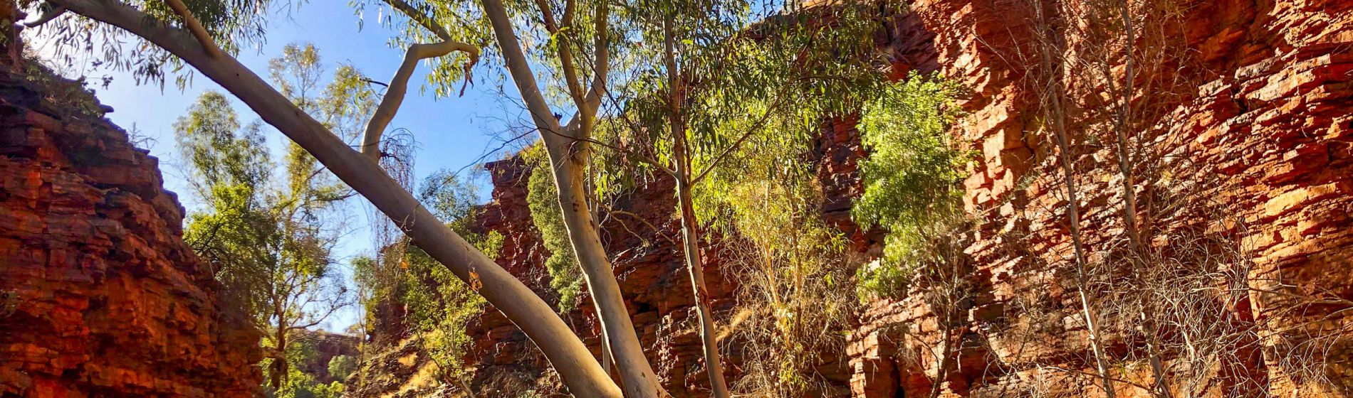
<path fill-rule="evenodd" d="M 1072 7 L 1086 3 L 1062 1 Z M 1348 302 L 1300 304 L 1295 297 L 1353 298 L 1353 3 L 1165 3 L 1181 11 L 1168 26 L 1172 34 L 1164 43 L 1174 55 L 1161 58 L 1176 66 L 1168 76 L 1176 84 L 1169 94 L 1134 101 L 1139 108 L 1149 108 L 1149 101 L 1155 108 L 1147 112 L 1151 120 L 1143 121 L 1151 128 L 1138 138 L 1145 142 L 1142 151 L 1162 159 L 1169 173 L 1138 182 L 1139 200 L 1147 198 L 1139 206 L 1143 213 L 1154 209 L 1151 223 L 1166 232 L 1162 235 L 1229 235 L 1227 241 L 1253 260 L 1247 285 L 1254 290 L 1230 308 L 1238 321 L 1284 331 L 1296 336 L 1299 347 L 1303 336 L 1346 331 L 1353 318 L 1338 310 Z M 1055 142 L 1040 125 L 1031 4 L 913 1 L 909 13 L 888 32 L 892 45 L 886 49 L 897 54 L 901 69 L 939 72 L 970 90 L 963 101 L 969 116 L 954 134 L 980 154 L 963 182 L 967 213 L 978 223 L 965 251 L 976 268 L 970 277 L 974 302 L 963 309 L 957 337 L 963 349 L 957 367 L 940 380 L 948 397 L 1104 395 L 1093 379 L 1077 382 L 1066 371 L 1049 370 L 1092 372 L 1093 364 L 1085 362 L 1086 332 L 1076 318 L 1078 304 L 1065 275 L 1073 250 L 1065 221 L 1068 196 Z M 1063 39 L 1074 49 L 1095 49 L 1074 34 Z M 1139 38 L 1138 46 L 1151 39 Z M 1077 51 L 1061 57 L 1092 57 Z M 1122 63 L 1111 67 L 1123 77 Z M 1138 67 L 1142 73 L 1151 65 Z M 1103 81 L 1077 74 L 1061 78 L 1072 108 L 1091 108 L 1086 104 L 1092 100 L 1082 96 L 1086 92 L 1108 92 Z M 1076 111 L 1069 125 L 1088 135 L 1074 159 L 1082 225 L 1086 246 L 1104 252 L 1114 244 L 1111 233 L 1122 236 L 1122 179 L 1114 136 L 1092 128 L 1086 120 L 1091 113 Z M 1149 167 L 1146 161 L 1138 165 Z M 1183 209 L 1166 209 L 1174 205 L 1166 201 L 1185 197 L 1183 193 L 1193 200 Z M 1161 239 L 1154 244 L 1180 241 Z M 1032 298 L 1061 308 L 1036 336 L 1020 331 L 1040 322 L 1035 317 L 1050 314 L 1031 314 Z M 850 349 L 854 397 L 928 397 L 938 364 L 924 349 L 940 345 L 934 314 L 921 300 L 873 302 L 861 321 Z M 1329 362 L 1314 371 L 1335 386 L 1314 387 L 1302 376 L 1311 370 L 1295 370 L 1281 360 L 1292 336 L 1268 335 L 1238 348 L 1234 358 L 1219 363 L 1223 370 L 1212 376 L 1212 385 L 1193 394 L 1349 394 L 1341 390 L 1353 376 L 1348 367 L 1353 348 L 1342 343 L 1348 339 L 1315 345 L 1329 349 Z M 1142 341 L 1104 339 L 1109 355 L 1142 358 Z M 1142 367 L 1124 378 L 1149 380 L 1149 368 Z M 1034 386 L 1038 383 L 1043 385 Z M 1119 397 L 1150 394 L 1119 385 Z"/>

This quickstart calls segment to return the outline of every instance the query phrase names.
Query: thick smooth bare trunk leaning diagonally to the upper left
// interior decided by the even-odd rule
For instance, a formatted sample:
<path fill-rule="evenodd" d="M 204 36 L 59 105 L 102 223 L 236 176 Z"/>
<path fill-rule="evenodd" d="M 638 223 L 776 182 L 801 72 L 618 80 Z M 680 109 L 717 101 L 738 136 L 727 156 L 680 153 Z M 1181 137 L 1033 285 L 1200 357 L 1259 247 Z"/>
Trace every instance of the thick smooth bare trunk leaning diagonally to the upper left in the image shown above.
<path fill-rule="evenodd" d="M 380 166 L 348 147 L 323 124 L 296 108 L 234 57 L 214 59 L 191 34 L 156 20 L 122 1 L 53 1 L 70 8 L 72 12 L 116 26 L 160 46 L 235 94 L 264 121 L 295 140 L 334 175 L 395 220 L 418 247 L 445 264 L 456 277 L 482 283 L 483 287 L 478 293 L 530 337 L 570 391 L 578 397 L 621 397 L 616 383 L 602 371 L 597 359 L 553 308 L 438 221 L 399 182 L 386 175 Z"/>

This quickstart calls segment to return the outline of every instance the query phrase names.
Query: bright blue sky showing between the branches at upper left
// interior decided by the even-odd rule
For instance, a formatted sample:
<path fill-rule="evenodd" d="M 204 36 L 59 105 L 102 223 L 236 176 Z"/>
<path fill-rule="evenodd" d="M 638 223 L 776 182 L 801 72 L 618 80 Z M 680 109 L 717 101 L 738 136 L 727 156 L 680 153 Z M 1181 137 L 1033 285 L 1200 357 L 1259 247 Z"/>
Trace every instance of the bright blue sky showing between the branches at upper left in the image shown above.
<path fill-rule="evenodd" d="M 359 26 L 359 16 L 346 5 L 346 1 L 321 0 L 302 5 L 292 12 L 280 11 L 271 19 L 268 26 L 268 42 L 261 49 L 245 50 L 239 54 L 239 61 L 253 69 L 260 76 L 267 76 L 268 59 L 281 54 L 281 47 L 288 43 L 314 43 L 321 57 L 331 72 L 340 63 L 357 67 L 368 77 L 377 81 L 387 81 L 394 76 L 402 61 L 403 49 L 387 46 L 392 35 L 390 30 L 375 23 L 376 11 L 367 11 L 367 23 Z M 45 46 L 41 39 L 31 39 L 39 54 L 51 54 L 53 49 Z M 463 97 L 436 100 L 432 92 L 422 93 L 415 84 L 423 81 L 426 65 L 419 65 L 418 72 L 410 80 L 409 96 L 403 107 L 395 116 L 390 128 L 407 128 L 413 132 L 419 144 L 415 158 L 415 178 L 421 179 L 438 169 L 449 167 L 459 170 L 483 161 L 501 158 L 501 154 L 487 154 L 499 146 L 501 131 L 506 130 L 505 120 L 521 120 L 521 105 L 517 104 L 517 93 L 507 88 L 509 96 L 503 97 L 492 84 L 482 81 L 495 81 L 479 78 L 479 86 L 471 86 Z M 165 175 L 165 185 L 169 190 L 180 193 L 180 200 L 189 210 L 199 206 L 188 197 L 189 190 L 180 171 L 181 162 L 175 148 L 173 123 L 187 113 L 187 109 L 196 101 L 198 96 L 206 90 L 225 92 L 216 84 L 200 74 L 192 85 L 179 90 L 173 82 L 165 84 L 164 89 L 157 85 L 137 85 L 129 73 L 110 70 L 76 70 L 73 73 L 85 74 L 92 82 L 100 77 L 112 77 L 112 84 L 103 88 L 95 86 L 99 100 L 112 107 L 115 111 L 108 115 L 118 125 L 131 131 L 135 128 L 141 135 L 150 139 L 145 144 L 150 154 L 161 159 L 161 171 Z M 235 103 L 235 111 L 242 123 L 258 120 L 258 116 L 244 104 Z M 528 136 L 533 139 L 534 136 Z M 269 144 L 280 148 L 285 138 L 276 131 L 269 134 Z M 487 197 L 487 181 L 480 181 L 480 197 Z M 342 259 L 341 268 L 348 274 L 348 259 L 360 254 L 373 251 L 369 232 L 368 213 L 365 202 L 353 201 L 349 205 L 350 232 L 340 243 L 337 255 Z M 357 321 L 356 309 L 341 313 L 326 325 L 330 331 L 342 331 Z"/>

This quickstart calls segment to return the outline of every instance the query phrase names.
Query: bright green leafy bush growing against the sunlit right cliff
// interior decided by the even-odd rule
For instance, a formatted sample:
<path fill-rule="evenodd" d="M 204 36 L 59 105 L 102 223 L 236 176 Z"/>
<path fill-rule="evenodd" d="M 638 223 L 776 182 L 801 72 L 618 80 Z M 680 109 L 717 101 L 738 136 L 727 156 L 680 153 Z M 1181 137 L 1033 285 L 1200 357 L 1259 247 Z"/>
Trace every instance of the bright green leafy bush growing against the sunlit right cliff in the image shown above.
<path fill-rule="evenodd" d="M 971 155 L 948 136 L 958 93 L 953 82 L 912 73 L 865 105 L 859 132 L 870 157 L 861 162 L 865 194 L 851 213 L 888 235 L 882 259 L 859 270 L 861 297 L 904 291 L 927 260 L 924 240 L 959 219 L 958 183 Z"/>

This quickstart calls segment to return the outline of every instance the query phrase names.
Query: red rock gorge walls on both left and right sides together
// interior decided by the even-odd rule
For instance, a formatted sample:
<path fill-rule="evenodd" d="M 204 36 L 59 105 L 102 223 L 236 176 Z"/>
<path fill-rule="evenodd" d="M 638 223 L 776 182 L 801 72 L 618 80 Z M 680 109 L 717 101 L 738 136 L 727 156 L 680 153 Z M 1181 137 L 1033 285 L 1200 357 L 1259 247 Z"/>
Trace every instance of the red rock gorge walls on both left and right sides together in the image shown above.
<path fill-rule="evenodd" d="M 946 291 L 951 306 L 924 289 L 855 305 L 840 320 L 850 333 L 806 364 L 821 382 L 812 397 L 1105 397 L 1091 339 L 1118 360 L 1116 397 L 1157 397 L 1153 366 L 1170 370 L 1173 397 L 1353 394 L 1353 3 L 1132 1 L 1157 12 L 1134 50 L 1154 62 L 1135 69 L 1100 53 L 1100 22 L 1089 20 L 1097 3 L 917 0 L 878 15 L 882 73 L 935 73 L 965 90 L 948 132 L 974 155 L 961 182 L 971 227 L 954 239 L 962 271 Z M 80 103 L 93 100 L 61 100 L 65 82 L 34 84 L 9 59 L 0 76 L 0 397 L 257 394 L 261 336 L 183 241 L 185 210 L 164 190 L 157 159 L 103 119 L 107 109 Z M 1115 121 L 1105 111 L 1118 104 L 1112 81 L 1132 73 L 1137 119 Z M 1050 111 L 1051 97 L 1061 111 Z M 1082 134 L 1069 166 L 1053 116 Z M 884 231 L 851 217 L 866 189 L 859 162 L 870 157 L 856 121 L 824 117 L 804 159 L 851 274 L 885 246 Z M 1124 255 L 1115 123 L 1141 127 L 1127 183 L 1147 225 L 1139 229 L 1150 232 L 1139 259 Z M 521 157 L 488 162 L 492 198 L 469 228 L 503 236 L 498 264 L 557 304 L 528 205 L 532 167 Z M 598 216 L 601 239 L 659 382 L 672 397 L 706 397 L 694 298 L 672 241 L 674 182 L 640 183 L 613 208 L 626 215 Z M 1068 201 L 1080 225 L 1069 225 Z M 736 390 L 750 353 L 736 333 L 744 287 L 721 256 L 735 240 L 716 236 L 702 255 Z M 1092 304 L 1077 294 L 1089 282 L 1068 266 L 1073 240 L 1103 271 Z M 1169 289 L 1216 293 L 1189 304 L 1142 298 L 1192 297 Z M 1099 337 L 1081 313 L 1091 305 L 1104 308 Z M 428 379 L 423 368 L 436 364 L 409 343 L 415 336 L 395 308 L 372 314 L 364 340 L 380 353 L 345 380 L 345 397 L 460 397 L 459 385 Z M 1157 355 L 1153 347 L 1170 343 L 1151 336 L 1193 336 L 1165 324 L 1170 310 L 1210 317 L 1197 333 L 1218 344 Z M 590 297 L 561 316 L 601 358 Z M 491 305 L 465 332 L 475 397 L 567 394 Z"/>

